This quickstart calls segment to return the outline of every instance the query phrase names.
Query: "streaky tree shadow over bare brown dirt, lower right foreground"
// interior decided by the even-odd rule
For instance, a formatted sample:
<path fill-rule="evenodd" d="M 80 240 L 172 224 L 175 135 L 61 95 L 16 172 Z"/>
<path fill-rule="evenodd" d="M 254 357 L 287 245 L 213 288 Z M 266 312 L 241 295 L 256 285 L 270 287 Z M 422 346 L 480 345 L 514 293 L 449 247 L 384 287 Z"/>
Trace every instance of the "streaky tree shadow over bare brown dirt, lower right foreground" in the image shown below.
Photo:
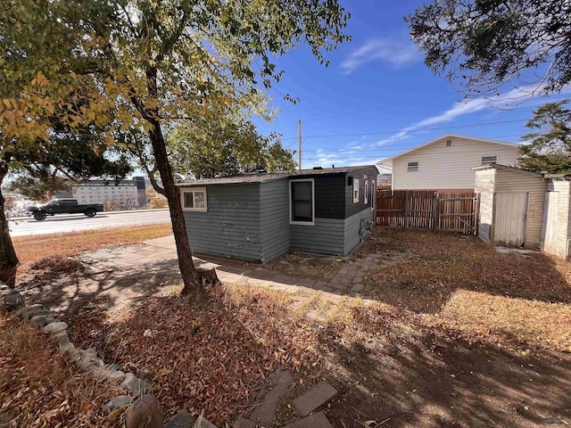
<path fill-rule="evenodd" d="M 571 422 L 568 354 L 523 357 L 440 333 L 394 332 L 382 344 L 375 333 L 346 344 L 322 340 L 328 342 L 335 364 L 343 367 L 340 371 L 353 381 L 326 409 L 335 428 L 366 421 L 383 427 L 532 427 L 558 418 Z"/>

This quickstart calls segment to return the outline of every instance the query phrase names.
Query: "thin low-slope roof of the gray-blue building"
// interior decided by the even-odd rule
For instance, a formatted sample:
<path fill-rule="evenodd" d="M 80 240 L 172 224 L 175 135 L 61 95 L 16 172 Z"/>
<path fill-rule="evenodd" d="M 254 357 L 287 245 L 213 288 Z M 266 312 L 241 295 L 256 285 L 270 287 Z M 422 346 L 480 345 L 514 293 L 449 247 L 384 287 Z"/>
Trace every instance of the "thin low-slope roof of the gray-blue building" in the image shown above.
<path fill-rule="evenodd" d="M 289 177 L 319 176 L 325 174 L 347 174 L 359 172 L 366 169 L 377 169 L 375 165 L 363 165 L 360 167 L 324 168 L 324 169 L 301 169 L 293 172 L 280 171 L 271 173 L 246 174 L 236 177 L 221 178 L 201 178 L 200 180 L 179 183 L 179 187 L 189 187 L 195 185 L 236 185 L 241 183 L 267 183 L 269 181 L 280 180 Z"/>

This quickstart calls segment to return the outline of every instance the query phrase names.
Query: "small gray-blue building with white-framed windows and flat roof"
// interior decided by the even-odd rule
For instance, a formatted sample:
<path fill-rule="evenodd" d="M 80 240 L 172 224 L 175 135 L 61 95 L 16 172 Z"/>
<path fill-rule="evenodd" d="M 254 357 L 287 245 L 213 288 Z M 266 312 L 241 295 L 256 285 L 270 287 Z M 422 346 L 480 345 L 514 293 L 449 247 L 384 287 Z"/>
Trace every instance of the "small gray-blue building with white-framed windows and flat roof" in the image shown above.
<path fill-rule="evenodd" d="M 268 263 L 290 249 L 347 256 L 370 235 L 375 166 L 302 169 L 178 185 L 193 251 Z"/>

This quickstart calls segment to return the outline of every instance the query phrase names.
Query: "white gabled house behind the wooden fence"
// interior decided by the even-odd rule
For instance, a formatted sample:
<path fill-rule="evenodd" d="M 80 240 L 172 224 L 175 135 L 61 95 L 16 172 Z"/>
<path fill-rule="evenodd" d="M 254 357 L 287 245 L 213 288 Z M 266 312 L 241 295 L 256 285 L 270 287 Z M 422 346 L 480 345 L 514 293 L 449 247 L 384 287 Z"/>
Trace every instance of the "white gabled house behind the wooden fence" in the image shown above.
<path fill-rule="evenodd" d="M 478 165 L 517 166 L 519 144 L 447 134 L 378 162 L 393 169 L 393 190 L 474 190 Z"/>

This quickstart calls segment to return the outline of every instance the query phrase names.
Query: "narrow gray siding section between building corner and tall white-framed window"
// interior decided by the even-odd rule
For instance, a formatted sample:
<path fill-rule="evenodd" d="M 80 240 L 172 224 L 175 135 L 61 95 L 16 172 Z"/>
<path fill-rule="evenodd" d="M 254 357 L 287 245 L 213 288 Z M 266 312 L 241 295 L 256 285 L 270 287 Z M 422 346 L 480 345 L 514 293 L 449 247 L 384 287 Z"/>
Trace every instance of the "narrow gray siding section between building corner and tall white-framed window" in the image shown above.
<path fill-rule="evenodd" d="M 289 238 L 289 180 L 262 183 L 260 186 L 261 262 L 285 254 Z"/>

